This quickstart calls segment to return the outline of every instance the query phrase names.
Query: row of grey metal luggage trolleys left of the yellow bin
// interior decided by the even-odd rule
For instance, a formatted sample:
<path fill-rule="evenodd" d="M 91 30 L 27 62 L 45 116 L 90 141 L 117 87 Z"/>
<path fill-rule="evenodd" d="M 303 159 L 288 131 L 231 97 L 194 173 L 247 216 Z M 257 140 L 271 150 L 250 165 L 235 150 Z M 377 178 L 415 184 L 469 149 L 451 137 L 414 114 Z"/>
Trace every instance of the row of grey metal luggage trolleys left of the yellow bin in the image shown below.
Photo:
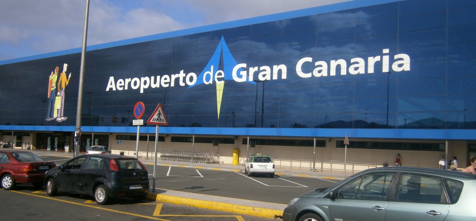
<path fill-rule="evenodd" d="M 214 152 L 158 151 L 158 153 L 158 158 L 161 160 L 198 163 L 220 162 L 220 155 Z"/>

